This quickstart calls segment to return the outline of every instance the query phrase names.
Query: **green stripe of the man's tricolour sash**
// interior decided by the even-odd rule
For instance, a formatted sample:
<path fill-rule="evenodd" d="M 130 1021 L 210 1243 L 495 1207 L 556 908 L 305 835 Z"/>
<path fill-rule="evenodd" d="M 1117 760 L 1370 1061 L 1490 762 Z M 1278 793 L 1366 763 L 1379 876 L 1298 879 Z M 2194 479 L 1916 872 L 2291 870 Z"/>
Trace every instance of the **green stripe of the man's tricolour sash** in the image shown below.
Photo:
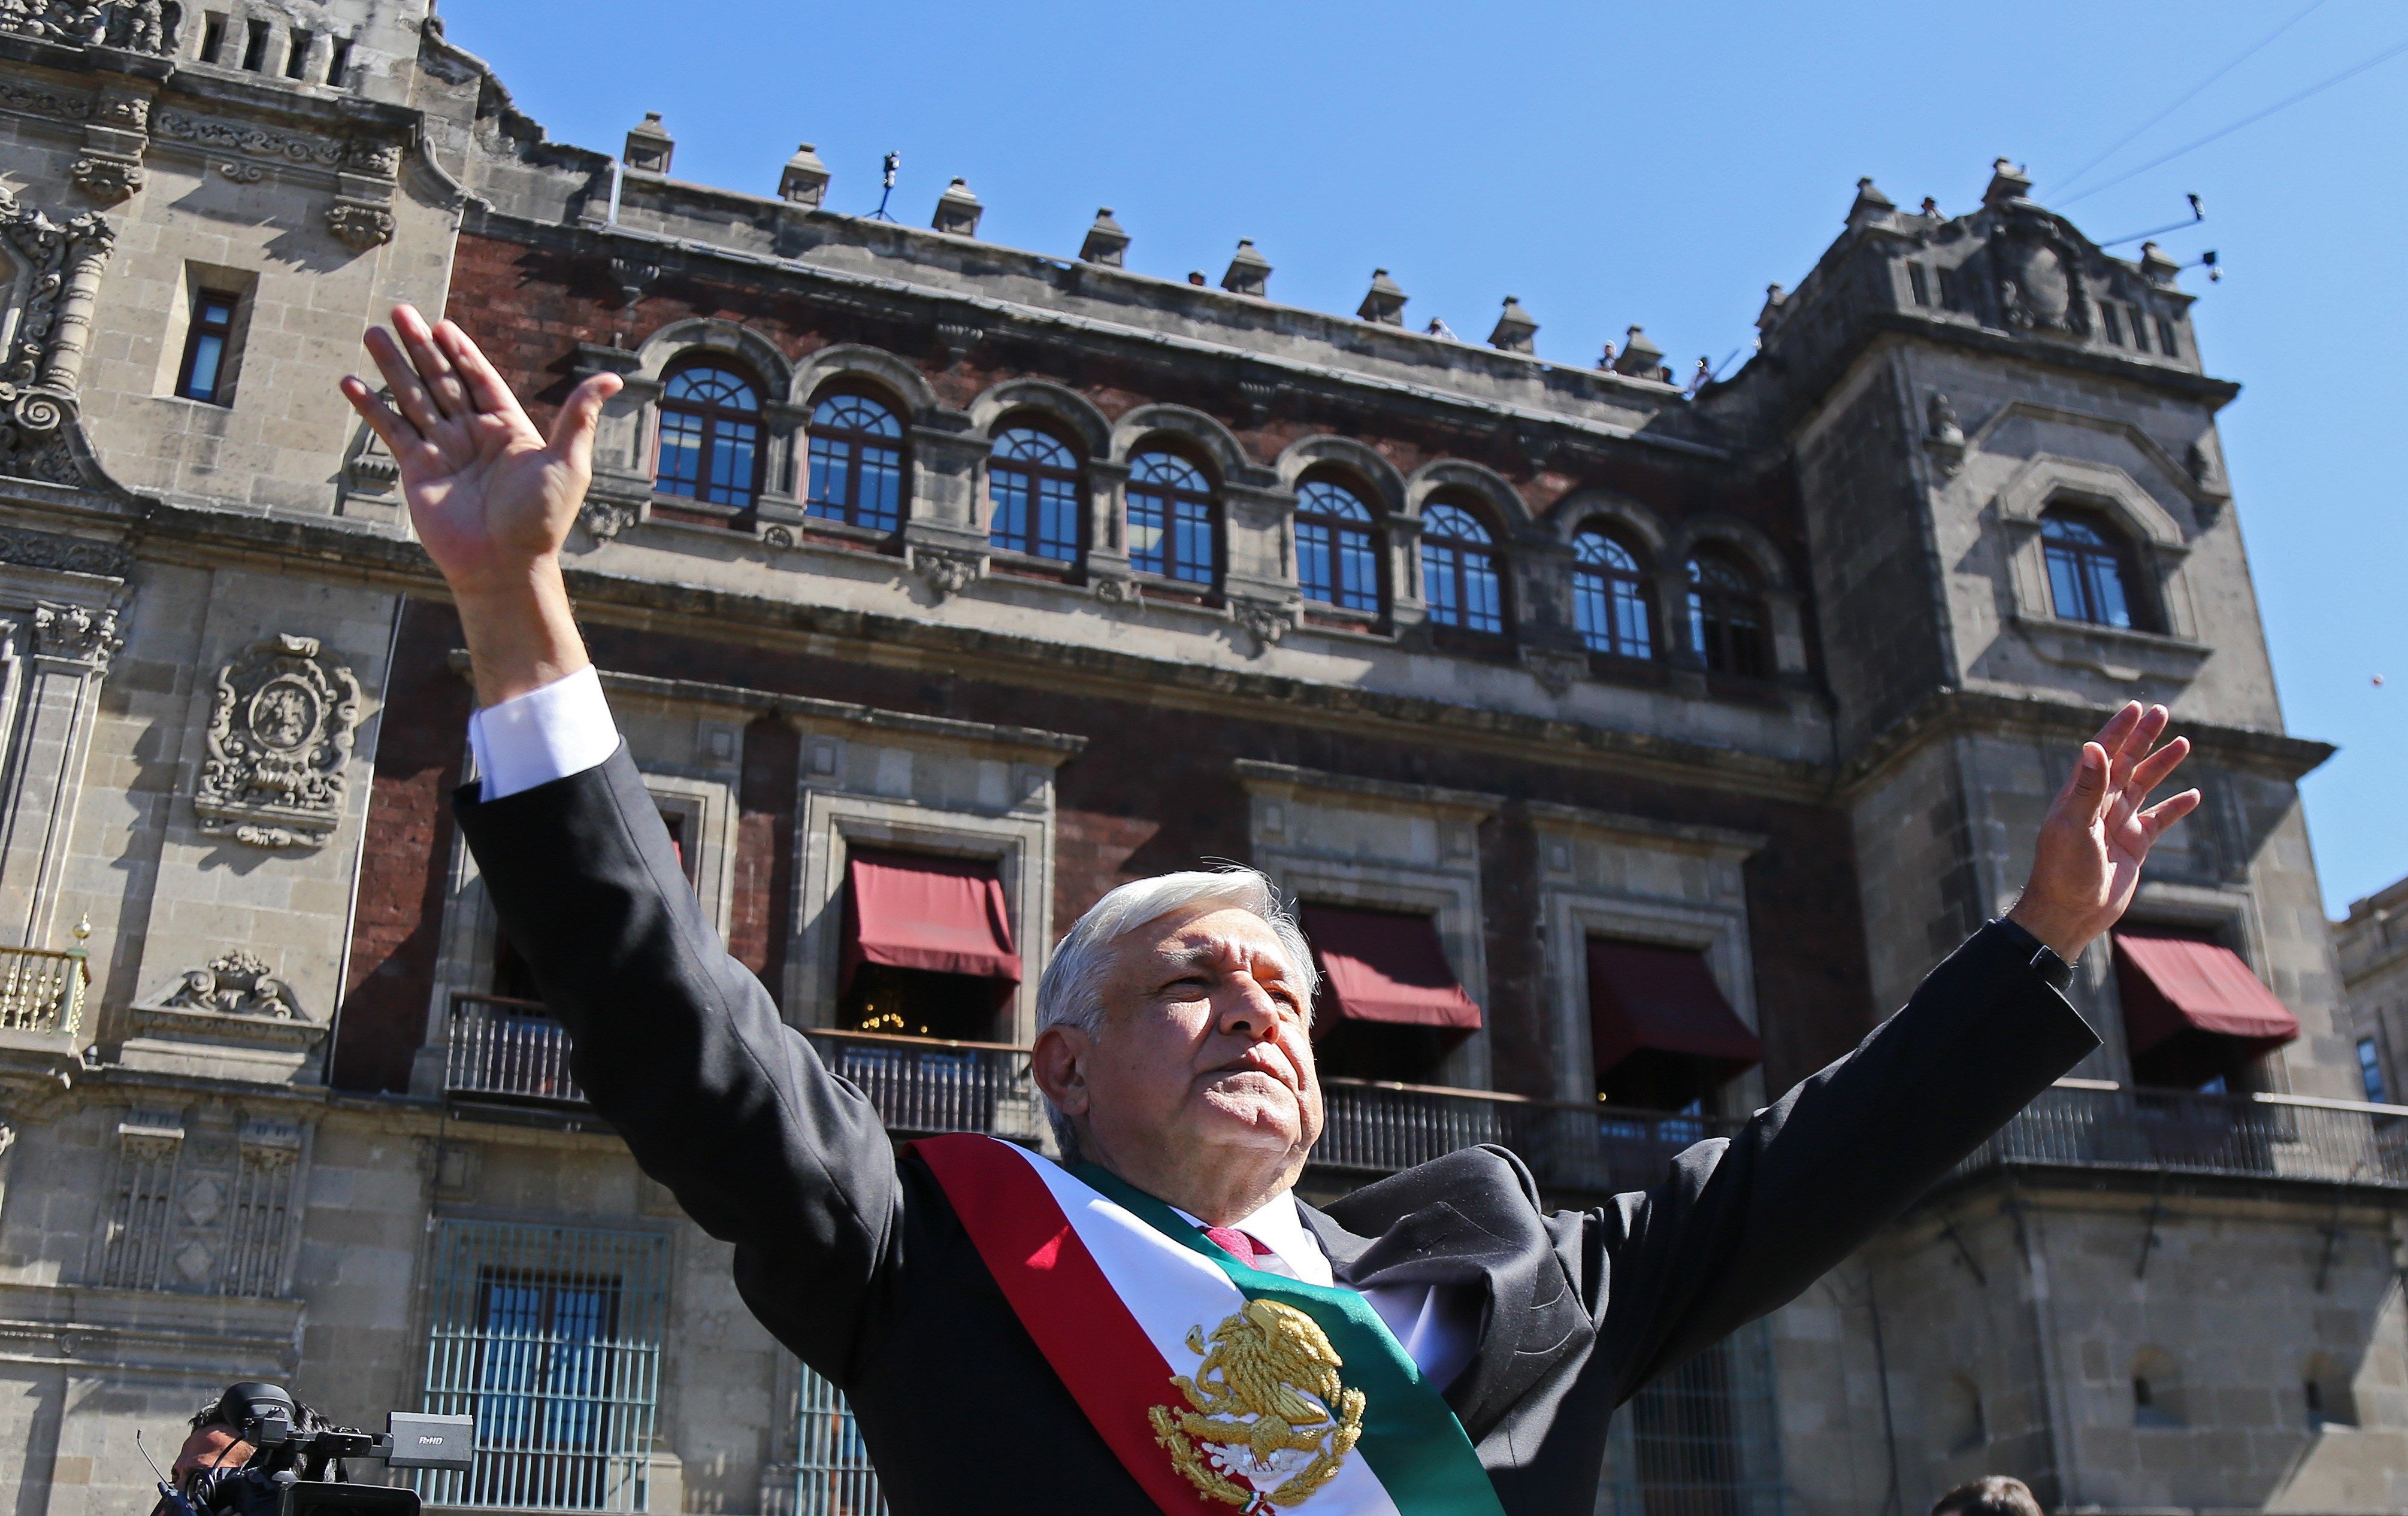
<path fill-rule="evenodd" d="M 1072 1169 L 1103 1191 L 1105 1198 L 1134 1213 L 1163 1237 L 1204 1254 L 1228 1273 L 1247 1299 L 1276 1299 L 1312 1316 L 1329 1345 L 1339 1350 L 1348 1388 L 1363 1391 L 1363 1439 L 1356 1451 L 1380 1475 L 1389 1499 L 1404 1516 L 1505 1516 L 1495 1485 L 1471 1451 L 1471 1437 L 1454 1420 L 1438 1386 L 1380 1321 L 1370 1302 L 1353 1290 L 1329 1290 L 1291 1280 L 1283 1273 L 1247 1268 L 1216 1246 L 1204 1232 L 1180 1220 L 1180 1213 L 1129 1186 L 1091 1162 Z M 1202 1321 L 1211 1331 L 1211 1321 Z M 1310 1506 L 1310 1502 L 1308 1502 Z M 1300 1506 L 1308 1511 L 1308 1506 Z M 1310 1516 L 1310 1511 L 1308 1511 Z"/>

